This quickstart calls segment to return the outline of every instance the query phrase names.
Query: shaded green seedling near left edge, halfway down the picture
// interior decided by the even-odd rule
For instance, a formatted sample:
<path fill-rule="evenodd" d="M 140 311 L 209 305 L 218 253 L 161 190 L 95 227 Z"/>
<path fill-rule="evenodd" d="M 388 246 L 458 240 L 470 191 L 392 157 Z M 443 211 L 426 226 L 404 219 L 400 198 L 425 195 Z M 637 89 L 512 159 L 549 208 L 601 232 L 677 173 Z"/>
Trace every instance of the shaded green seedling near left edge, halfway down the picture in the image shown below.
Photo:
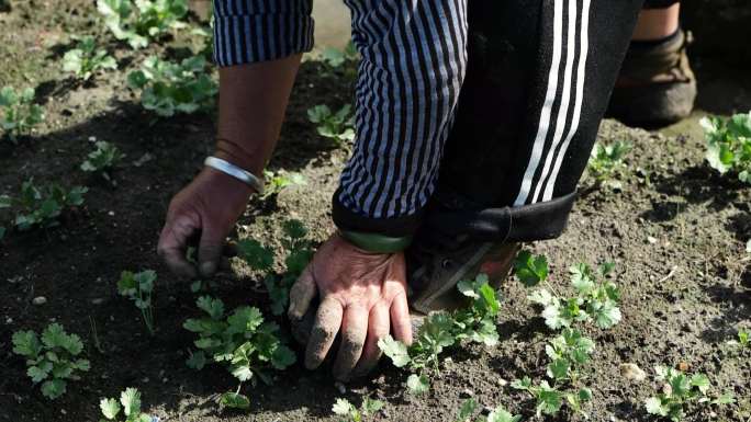
<path fill-rule="evenodd" d="M 21 184 L 21 194 L 18 197 L 0 195 L 0 208 L 18 209 L 13 225 L 19 230 L 49 228 L 59 225 L 58 217 L 65 209 L 81 206 L 83 194 L 88 191 L 83 186 L 66 191 L 58 184 L 37 187 L 34 180 L 30 179 Z"/>

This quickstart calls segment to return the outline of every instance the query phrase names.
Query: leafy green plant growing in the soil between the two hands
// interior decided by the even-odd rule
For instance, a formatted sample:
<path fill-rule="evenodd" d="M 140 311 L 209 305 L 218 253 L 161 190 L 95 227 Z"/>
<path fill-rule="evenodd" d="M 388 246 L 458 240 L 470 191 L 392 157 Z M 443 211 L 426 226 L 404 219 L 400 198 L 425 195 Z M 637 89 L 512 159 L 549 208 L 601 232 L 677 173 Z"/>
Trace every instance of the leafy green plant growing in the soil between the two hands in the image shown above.
<path fill-rule="evenodd" d="M 237 243 L 238 255 L 255 271 L 265 273 L 264 284 L 271 300 L 271 312 L 282 315 L 289 305 L 290 288 L 313 259 L 313 247 L 307 239 L 307 229 L 299 220 L 287 220 L 282 225 L 284 238 L 283 274 L 273 272 L 273 251 L 257 240 L 245 239 Z"/>

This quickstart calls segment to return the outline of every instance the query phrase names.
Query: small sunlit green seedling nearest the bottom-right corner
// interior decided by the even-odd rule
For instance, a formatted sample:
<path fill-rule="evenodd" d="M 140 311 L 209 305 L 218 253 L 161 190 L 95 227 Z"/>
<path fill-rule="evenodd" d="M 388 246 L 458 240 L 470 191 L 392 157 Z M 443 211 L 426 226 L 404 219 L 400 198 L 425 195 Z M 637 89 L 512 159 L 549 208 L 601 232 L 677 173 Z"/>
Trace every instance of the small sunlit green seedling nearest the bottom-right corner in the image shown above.
<path fill-rule="evenodd" d="M 711 388 L 705 374 L 686 375 L 665 366 L 654 367 L 655 380 L 661 391 L 644 401 L 647 412 L 668 418 L 673 422 L 683 419 L 685 407 L 691 403 L 730 404 L 736 402 L 732 394 L 726 392 L 715 398 L 707 394 Z"/>

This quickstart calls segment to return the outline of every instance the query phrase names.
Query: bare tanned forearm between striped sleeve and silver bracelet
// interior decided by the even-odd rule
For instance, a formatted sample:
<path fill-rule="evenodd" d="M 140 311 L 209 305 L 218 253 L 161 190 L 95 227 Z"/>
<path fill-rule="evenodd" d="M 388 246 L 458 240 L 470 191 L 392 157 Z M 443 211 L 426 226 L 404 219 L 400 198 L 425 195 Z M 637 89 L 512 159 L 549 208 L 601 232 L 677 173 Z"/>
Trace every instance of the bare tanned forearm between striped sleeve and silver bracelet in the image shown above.
<path fill-rule="evenodd" d="M 220 69 L 216 157 L 261 175 L 279 138 L 300 58 Z"/>

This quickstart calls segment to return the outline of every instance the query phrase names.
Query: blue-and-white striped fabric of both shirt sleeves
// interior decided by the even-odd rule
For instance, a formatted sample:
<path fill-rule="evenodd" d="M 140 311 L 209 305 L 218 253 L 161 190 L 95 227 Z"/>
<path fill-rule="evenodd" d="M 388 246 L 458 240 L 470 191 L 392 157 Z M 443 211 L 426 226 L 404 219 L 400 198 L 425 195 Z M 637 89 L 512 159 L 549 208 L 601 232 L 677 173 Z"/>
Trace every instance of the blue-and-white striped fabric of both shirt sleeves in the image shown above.
<path fill-rule="evenodd" d="M 338 202 L 369 218 L 416 213 L 433 193 L 467 64 L 467 0 L 345 0 L 362 60 L 357 139 Z M 310 0 L 214 0 L 220 66 L 313 44 Z"/>

